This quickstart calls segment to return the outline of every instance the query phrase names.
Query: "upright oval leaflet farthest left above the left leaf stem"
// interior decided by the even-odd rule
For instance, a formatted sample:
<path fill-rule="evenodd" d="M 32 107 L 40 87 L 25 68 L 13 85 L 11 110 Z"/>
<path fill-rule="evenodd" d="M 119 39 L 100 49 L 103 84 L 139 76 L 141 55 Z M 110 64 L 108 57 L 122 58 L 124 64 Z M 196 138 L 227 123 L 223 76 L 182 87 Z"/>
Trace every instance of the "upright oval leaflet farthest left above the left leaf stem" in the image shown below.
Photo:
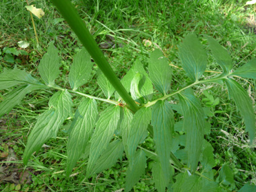
<path fill-rule="evenodd" d="M 54 81 L 59 75 L 60 66 L 58 51 L 53 45 L 53 42 L 50 42 L 47 52 L 44 54 L 38 65 L 40 76 L 46 84 L 49 84 L 50 86 L 55 84 Z"/>

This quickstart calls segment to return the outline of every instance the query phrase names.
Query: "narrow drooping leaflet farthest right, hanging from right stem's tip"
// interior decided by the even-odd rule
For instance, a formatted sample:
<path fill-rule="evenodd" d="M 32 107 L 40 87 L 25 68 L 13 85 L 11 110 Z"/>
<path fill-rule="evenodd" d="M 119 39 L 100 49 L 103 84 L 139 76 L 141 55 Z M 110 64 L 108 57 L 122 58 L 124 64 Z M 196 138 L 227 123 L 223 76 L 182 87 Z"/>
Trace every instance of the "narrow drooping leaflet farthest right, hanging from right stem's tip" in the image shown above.
<path fill-rule="evenodd" d="M 233 79 L 225 79 L 226 86 L 228 87 L 228 94 L 240 111 L 243 119 L 245 120 L 245 129 L 249 132 L 251 143 L 255 137 L 255 112 L 251 98 L 249 98 L 245 89 Z"/>

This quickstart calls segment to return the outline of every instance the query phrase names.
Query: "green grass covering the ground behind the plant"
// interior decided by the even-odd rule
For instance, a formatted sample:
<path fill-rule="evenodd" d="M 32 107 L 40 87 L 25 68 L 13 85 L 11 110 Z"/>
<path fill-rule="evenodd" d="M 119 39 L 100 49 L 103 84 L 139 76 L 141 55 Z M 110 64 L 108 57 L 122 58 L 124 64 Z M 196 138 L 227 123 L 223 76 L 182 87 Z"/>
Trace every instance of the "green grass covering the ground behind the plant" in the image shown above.
<path fill-rule="evenodd" d="M 74 1 L 79 14 L 86 22 L 90 32 L 96 41 L 101 44 L 110 40 L 111 46 L 104 48 L 104 54 L 115 69 L 118 77 L 123 77 L 133 65 L 135 59 L 140 58 L 146 64 L 146 58 L 150 51 L 161 48 L 169 59 L 170 65 L 181 67 L 181 61 L 177 55 L 177 44 L 181 38 L 191 32 L 197 34 L 201 42 L 207 47 L 204 35 L 216 38 L 230 53 L 234 66 L 238 67 L 255 57 L 255 5 L 245 6 L 245 1 Z M 20 69 L 32 71 L 38 76 L 37 66 L 45 53 L 47 44 L 55 40 L 55 45 L 63 59 L 62 73 L 57 84 L 68 87 L 67 75 L 69 66 L 73 61 L 73 55 L 82 48 L 82 44 L 71 32 L 49 1 L 36 1 L 36 7 L 41 7 L 45 15 L 41 20 L 34 18 L 39 38 L 39 47 L 36 46 L 36 38 L 32 28 L 30 14 L 26 11 L 26 2 L 3 0 L 0 3 L 0 72 L 3 67 L 12 68 L 17 65 Z M 28 55 L 10 55 L 13 62 L 5 61 L 5 47 L 15 48 L 20 51 L 18 41 L 26 40 L 30 43 L 24 49 Z M 145 46 L 143 40 L 152 42 L 151 46 Z M 113 47 L 115 45 L 115 48 Z M 20 62 L 20 60 L 22 62 Z M 214 59 L 210 56 L 207 70 L 220 71 Z M 147 66 L 146 66 L 147 67 Z M 102 91 L 96 86 L 96 69 L 90 83 L 79 91 L 104 98 Z M 184 86 L 188 79 L 180 68 L 173 67 L 172 90 Z M 214 73 L 207 73 L 213 75 Z M 240 80 L 239 80 L 240 81 Z M 255 81 L 243 81 L 243 86 L 255 99 Z M 196 88 L 197 96 L 205 98 L 203 90 L 207 90 L 215 97 L 220 98 L 220 104 L 210 108 L 212 111 L 221 110 L 212 117 L 207 117 L 211 124 L 210 135 L 206 138 L 214 147 L 216 169 L 224 163 L 228 163 L 234 173 L 237 189 L 245 183 L 256 184 L 255 160 L 256 154 L 247 144 L 247 133 L 244 131 L 243 120 L 237 112 L 234 102 L 228 100 L 228 93 L 218 86 L 201 85 Z M 218 94 L 215 94 L 218 93 Z M 0 98 L 7 92 L 0 92 Z M 67 153 L 65 146 L 67 136 L 63 126 L 56 139 L 48 141 L 46 146 L 30 160 L 25 167 L 22 164 L 22 153 L 30 129 L 36 122 L 38 114 L 48 106 L 51 91 L 28 94 L 25 100 L 16 106 L 9 115 L 0 119 L 0 172 L 6 172 L 8 168 L 18 177 L 9 177 L 10 181 L 1 180 L 1 191 L 19 191 L 12 189 L 20 183 L 20 190 L 27 191 L 117 191 L 124 188 L 125 170 L 127 162 L 125 156 L 113 168 L 105 170 L 92 179 L 85 177 L 86 159 L 80 160 L 70 178 L 65 177 L 65 164 Z M 172 98 L 175 102 L 175 98 Z M 79 102 L 79 98 L 73 101 Z M 104 105 L 102 106 L 104 108 Z M 205 106 L 207 108 L 207 106 Z M 256 110 L 256 105 L 253 106 Z M 177 116 L 177 119 L 179 115 Z M 69 123 L 68 121 L 66 122 Z M 145 148 L 152 148 L 153 141 L 148 139 L 143 143 Z M 13 150 L 13 159 L 5 157 Z M 150 162 L 148 162 L 150 166 Z M 23 177 L 29 173 L 28 177 Z M 8 175 L 9 176 L 9 175 Z M 0 174 L 0 178 L 1 174 Z M 27 181 L 27 183 L 26 183 Z M 141 179 L 134 187 L 134 191 L 155 191 L 151 172 Z"/>

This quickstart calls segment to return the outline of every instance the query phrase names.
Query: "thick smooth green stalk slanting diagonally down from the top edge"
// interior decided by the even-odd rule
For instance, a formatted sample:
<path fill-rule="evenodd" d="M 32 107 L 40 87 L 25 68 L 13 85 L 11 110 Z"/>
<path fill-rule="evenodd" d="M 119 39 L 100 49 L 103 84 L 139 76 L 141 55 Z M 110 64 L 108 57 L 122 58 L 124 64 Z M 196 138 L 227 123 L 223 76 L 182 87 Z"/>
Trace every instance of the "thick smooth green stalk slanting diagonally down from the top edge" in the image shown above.
<path fill-rule="evenodd" d="M 125 100 L 129 108 L 136 112 L 139 108 L 137 104 L 135 104 L 134 100 L 127 93 L 115 72 L 110 67 L 108 61 L 104 57 L 102 51 L 98 47 L 96 41 L 90 34 L 89 30 L 86 28 L 86 24 L 84 24 L 83 20 L 79 17 L 75 7 L 71 4 L 70 0 L 51 0 L 61 15 L 65 18 L 73 32 L 77 35 L 79 40 L 82 42 L 88 53 L 92 56 L 92 59 L 97 63 L 100 70 L 104 73 L 110 84 L 117 90 L 120 96 Z"/>

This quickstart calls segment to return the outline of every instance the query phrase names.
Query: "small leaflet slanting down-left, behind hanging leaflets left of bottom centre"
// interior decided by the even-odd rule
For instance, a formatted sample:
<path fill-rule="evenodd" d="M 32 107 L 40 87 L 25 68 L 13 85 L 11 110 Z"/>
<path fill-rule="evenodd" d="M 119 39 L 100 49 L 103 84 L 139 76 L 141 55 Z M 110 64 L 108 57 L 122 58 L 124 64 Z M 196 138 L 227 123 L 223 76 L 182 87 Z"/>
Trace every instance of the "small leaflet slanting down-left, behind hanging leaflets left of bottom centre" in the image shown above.
<path fill-rule="evenodd" d="M 102 153 L 96 162 L 92 172 L 102 172 L 107 168 L 112 167 L 118 159 L 123 155 L 123 143 L 120 140 L 115 140 L 108 145 L 108 148 Z"/>

